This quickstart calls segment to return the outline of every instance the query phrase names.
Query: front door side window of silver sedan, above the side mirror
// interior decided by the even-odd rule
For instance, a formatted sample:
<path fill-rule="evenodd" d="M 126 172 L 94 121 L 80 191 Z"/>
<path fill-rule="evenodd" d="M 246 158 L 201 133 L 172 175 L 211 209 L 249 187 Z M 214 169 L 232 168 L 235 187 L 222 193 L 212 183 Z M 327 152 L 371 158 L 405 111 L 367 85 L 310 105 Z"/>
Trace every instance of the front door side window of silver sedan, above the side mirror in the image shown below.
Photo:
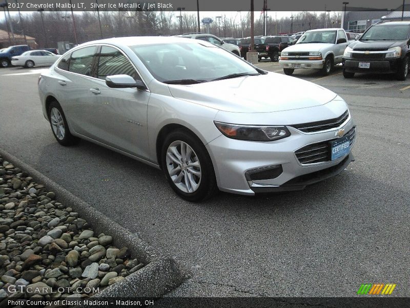
<path fill-rule="evenodd" d="M 141 80 L 131 62 L 118 49 L 109 46 L 101 47 L 101 52 L 98 54 L 97 78 L 105 80 L 107 76 L 120 74 Z"/>

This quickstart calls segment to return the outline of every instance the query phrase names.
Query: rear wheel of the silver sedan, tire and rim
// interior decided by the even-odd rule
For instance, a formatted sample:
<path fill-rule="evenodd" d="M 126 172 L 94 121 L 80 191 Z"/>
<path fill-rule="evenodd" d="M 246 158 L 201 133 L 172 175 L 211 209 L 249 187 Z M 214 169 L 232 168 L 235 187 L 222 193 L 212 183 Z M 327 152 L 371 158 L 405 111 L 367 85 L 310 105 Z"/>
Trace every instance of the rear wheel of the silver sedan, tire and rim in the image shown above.
<path fill-rule="evenodd" d="M 79 139 L 71 134 L 63 109 L 57 101 L 50 103 L 48 118 L 51 130 L 59 144 L 69 146 L 79 142 Z"/>

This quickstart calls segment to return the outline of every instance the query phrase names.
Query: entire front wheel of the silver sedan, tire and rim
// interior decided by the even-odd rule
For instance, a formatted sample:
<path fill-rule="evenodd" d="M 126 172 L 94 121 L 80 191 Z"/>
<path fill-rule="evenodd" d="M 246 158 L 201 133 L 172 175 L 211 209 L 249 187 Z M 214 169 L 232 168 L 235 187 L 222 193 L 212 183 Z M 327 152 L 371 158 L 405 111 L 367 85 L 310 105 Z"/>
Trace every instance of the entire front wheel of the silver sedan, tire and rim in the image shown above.
<path fill-rule="evenodd" d="M 206 147 L 186 130 L 168 134 L 161 149 L 161 165 L 172 189 L 187 201 L 203 201 L 217 191 L 214 167 Z"/>

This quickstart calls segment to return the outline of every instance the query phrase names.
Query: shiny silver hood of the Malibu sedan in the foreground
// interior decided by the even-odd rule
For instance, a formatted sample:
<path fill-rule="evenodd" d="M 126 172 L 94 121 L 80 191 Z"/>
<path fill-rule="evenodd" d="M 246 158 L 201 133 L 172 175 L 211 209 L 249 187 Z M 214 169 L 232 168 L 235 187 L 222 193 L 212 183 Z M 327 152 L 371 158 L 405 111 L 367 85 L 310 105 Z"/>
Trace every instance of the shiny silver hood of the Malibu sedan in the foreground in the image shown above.
<path fill-rule="evenodd" d="M 326 104 L 336 94 L 314 83 L 270 72 L 193 85 L 168 85 L 177 99 L 230 112 L 275 112 Z"/>

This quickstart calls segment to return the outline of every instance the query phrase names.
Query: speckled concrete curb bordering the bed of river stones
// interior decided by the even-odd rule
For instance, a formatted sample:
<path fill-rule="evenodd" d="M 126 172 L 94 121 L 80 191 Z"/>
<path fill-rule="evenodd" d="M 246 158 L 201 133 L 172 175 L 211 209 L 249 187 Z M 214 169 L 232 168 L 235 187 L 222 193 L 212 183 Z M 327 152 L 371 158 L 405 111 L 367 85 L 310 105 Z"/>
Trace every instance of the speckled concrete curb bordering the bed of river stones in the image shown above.
<path fill-rule="evenodd" d="M 87 220 L 96 234 L 111 235 L 115 246 L 128 247 L 133 258 L 146 264 L 94 297 L 159 297 L 173 290 L 185 279 L 184 271 L 172 258 L 163 256 L 138 236 L 2 148 L 0 155 L 15 167 L 26 171 L 37 183 L 55 192 L 56 200 L 72 207 L 79 217 Z"/>

